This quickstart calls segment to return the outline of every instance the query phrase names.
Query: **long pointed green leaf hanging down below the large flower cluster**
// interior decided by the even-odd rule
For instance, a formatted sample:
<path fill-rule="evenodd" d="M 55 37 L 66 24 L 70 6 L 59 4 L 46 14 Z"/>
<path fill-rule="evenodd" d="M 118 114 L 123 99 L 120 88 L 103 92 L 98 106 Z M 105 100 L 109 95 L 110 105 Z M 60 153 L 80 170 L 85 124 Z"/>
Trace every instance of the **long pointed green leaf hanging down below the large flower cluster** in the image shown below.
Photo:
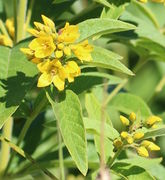
<path fill-rule="evenodd" d="M 50 92 L 47 92 L 47 97 L 58 120 L 64 143 L 78 169 L 86 175 L 88 169 L 87 142 L 78 96 L 71 90 L 66 90 L 59 94 L 59 102 L 54 101 Z"/>

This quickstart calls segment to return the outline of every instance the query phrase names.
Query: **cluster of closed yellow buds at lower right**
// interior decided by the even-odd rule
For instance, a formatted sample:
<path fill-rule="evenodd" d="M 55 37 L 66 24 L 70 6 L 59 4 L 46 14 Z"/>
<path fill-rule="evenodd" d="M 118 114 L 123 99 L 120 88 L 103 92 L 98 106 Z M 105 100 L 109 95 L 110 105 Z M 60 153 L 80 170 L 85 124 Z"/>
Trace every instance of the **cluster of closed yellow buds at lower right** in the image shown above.
<path fill-rule="evenodd" d="M 142 124 L 139 120 L 136 119 L 136 114 L 132 112 L 129 115 L 129 118 L 120 116 L 120 120 L 124 126 L 127 127 L 127 131 L 122 131 L 120 136 L 114 140 L 113 144 L 115 149 L 122 147 L 132 147 L 136 150 L 138 155 L 143 157 L 148 157 L 148 151 L 158 151 L 160 150 L 159 146 L 148 140 L 142 140 L 144 137 L 144 131 L 142 129 Z M 153 128 L 155 124 L 161 121 L 161 118 L 158 116 L 150 116 L 146 120 L 146 125 L 149 128 Z M 154 127 L 155 128 L 155 127 Z M 139 141 L 141 141 L 139 143 Z"/>

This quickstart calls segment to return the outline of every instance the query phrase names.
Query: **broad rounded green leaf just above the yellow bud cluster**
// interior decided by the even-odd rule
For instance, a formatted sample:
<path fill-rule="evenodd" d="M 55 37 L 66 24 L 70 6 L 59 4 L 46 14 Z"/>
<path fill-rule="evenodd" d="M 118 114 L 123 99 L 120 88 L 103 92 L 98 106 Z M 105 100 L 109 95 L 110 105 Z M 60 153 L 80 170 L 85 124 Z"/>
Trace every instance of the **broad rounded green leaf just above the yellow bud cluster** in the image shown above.
<path fill-rule="evenodd" d="M 131 112 L 140 112 L 143 118 L 151 115 L 147 104 L 140 97 L 129 93 L 119 93 L 111 100 L 110 105 L 128 115 Z"/>

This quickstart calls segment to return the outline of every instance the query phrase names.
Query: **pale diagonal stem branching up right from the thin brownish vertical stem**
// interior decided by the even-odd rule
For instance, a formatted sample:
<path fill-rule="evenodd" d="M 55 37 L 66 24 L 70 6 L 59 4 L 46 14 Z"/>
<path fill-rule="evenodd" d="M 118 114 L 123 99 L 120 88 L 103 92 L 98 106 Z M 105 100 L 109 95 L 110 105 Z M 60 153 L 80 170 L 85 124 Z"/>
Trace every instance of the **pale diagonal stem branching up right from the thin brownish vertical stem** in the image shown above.
<path fill-rule="evenodd" d="M 122 83 L 118 84 L 116 88 L 111 92 L 111 94 L 108 96 L 107 100 L 105 101 L 106 106 L 110 100 L 125 86 L 125 84 L 128 82 L 128 79 L 124 79 Z"/>

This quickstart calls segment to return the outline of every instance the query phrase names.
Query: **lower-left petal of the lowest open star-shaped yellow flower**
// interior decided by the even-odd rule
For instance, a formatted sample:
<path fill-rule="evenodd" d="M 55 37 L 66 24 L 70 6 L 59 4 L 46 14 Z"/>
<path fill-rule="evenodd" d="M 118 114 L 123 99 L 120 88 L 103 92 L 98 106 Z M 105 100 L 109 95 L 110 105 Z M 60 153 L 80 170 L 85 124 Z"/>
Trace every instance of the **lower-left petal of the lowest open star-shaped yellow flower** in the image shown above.
<path fill-rule="evenodd" d="M 46 87 L 52 83 L 52 75 L 44 72 L 38 79 L 37 87 Z"/>

